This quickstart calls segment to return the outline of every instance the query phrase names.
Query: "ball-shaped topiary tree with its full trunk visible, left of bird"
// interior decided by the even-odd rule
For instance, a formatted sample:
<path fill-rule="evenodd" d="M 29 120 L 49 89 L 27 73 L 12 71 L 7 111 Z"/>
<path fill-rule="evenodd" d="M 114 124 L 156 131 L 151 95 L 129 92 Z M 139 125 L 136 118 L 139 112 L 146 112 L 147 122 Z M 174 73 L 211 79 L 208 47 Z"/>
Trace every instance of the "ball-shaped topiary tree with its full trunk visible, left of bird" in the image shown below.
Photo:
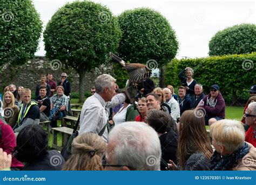
<path fill-rule="evenodd" d="M 46 57 L 79 73 L 79 102 L 84 101 L 85 72 L 109 61 L 121 35 L 117 18 L 98 3 L 67 3 L 52 16 L 44 31 Z"/>

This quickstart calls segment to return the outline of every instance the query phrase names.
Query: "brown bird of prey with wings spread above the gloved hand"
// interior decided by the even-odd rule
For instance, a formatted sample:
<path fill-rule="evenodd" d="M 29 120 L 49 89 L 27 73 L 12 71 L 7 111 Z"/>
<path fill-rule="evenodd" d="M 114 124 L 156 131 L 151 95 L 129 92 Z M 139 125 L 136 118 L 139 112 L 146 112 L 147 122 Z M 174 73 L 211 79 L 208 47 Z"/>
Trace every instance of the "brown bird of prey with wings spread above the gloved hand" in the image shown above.
<path fill-rule="evenodd" d="M 151 74 L 151 70 L 144 64 L 131 63 L 127 64 L 124 60 L 118 57 L 116 54 L 110 52 L 110 57 L 114 60 L 118 61 L 128 72 L 129 82 L 130 84 L 136 84 L 143 79 L 149 78 Z"/>

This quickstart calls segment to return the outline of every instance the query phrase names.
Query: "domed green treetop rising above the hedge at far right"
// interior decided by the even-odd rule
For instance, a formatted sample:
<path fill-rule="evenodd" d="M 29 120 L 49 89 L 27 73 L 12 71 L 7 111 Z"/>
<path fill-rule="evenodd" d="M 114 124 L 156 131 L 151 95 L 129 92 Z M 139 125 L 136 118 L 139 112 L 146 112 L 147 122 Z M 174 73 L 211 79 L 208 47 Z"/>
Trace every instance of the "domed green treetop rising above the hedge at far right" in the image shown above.
<path fill-rule="evenodd" d="M 209 42 L 209 55 L 242 54 L 256 51 L 256 25 L 240 24 L 218 31 Z"/>

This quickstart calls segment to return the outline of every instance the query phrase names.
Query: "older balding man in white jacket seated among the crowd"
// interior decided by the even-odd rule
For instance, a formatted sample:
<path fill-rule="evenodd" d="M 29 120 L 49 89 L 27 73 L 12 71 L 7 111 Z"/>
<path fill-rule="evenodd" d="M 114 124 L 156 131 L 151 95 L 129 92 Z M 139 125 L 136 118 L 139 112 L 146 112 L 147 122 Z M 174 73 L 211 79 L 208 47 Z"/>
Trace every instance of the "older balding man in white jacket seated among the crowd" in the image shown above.
<path fill-rule="evenodd" d="M 172 96 L 172 92 L 169 88 L 164 88 L 164 94 L 166 99 L 166 104 L 171 107 L 171 117 L 177 124 L 177 120 L 180 118 L 179 104 L 176 99 Z"/>

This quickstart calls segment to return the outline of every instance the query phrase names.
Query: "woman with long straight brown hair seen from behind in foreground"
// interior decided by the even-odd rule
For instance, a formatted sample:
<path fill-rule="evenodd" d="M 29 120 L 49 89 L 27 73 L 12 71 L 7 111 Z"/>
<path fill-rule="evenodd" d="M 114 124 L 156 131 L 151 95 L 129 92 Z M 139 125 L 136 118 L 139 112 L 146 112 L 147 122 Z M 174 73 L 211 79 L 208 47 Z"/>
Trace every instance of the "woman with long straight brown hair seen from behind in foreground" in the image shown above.
<path fill-rule="evenodd" d="M 209 170 L 213 153 L 205 129 L 205 119 L 196 110 L 185 111 L 178 123 L 178 165 L 181 170 Z M 199 162 L 200 161 L 200 162 Z M 169 168 L 177 170 L 170 161 Z"/>

